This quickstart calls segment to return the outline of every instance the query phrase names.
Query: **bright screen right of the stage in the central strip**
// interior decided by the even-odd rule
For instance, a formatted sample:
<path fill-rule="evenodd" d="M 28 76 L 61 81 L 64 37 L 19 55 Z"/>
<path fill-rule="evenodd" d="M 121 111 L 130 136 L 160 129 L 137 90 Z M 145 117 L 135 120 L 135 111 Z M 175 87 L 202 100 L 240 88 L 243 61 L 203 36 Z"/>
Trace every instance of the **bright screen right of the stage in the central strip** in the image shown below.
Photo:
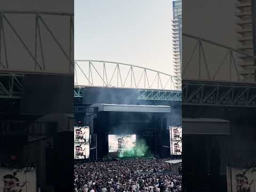
<path fill-rule="evenodd" d="M 170 126 L 170 150 L 171 155 L 182 154 L 182 127 Z"/>

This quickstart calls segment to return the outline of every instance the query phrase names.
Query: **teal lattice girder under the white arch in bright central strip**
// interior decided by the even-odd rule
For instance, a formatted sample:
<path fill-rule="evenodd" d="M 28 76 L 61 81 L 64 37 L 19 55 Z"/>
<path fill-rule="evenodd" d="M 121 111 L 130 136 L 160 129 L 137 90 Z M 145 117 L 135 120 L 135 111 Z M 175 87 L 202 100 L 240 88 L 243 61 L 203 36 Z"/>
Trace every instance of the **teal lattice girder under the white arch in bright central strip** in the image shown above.
<path fill-rule="evenodd" d="M 161 100 L 161 101 L 181 101 L 181 91 L 174 90 L 138 90 L 137 99 L 140 100 Z"/>

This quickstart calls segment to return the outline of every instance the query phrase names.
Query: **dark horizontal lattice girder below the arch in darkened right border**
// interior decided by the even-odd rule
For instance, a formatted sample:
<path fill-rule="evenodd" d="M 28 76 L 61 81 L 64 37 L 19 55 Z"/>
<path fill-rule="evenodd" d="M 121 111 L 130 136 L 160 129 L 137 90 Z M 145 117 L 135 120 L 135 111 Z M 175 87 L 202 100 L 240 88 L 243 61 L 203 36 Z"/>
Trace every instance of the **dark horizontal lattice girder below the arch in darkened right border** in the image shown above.
<path fill-rule="evenodd" d="M 256 107 L 256 84 L 183 81 L 183 105 Z"/>

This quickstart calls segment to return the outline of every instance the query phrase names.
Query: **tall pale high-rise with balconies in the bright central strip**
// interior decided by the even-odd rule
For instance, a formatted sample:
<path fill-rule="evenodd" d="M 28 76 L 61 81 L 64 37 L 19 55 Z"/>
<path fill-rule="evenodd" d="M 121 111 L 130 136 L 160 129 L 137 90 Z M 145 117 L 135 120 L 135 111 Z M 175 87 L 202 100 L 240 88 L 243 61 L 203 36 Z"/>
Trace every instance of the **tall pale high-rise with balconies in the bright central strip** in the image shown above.
<path fill-rule="evenodd" d="M 174 76 L 181 79 L 181 27 L 182 27 L 182 1 L 173 1 L 172 18 L 172 49 L 173 49 L 173 67 Z M 175 80 L 175 87 L 181 87 L 181 80 Z"/>

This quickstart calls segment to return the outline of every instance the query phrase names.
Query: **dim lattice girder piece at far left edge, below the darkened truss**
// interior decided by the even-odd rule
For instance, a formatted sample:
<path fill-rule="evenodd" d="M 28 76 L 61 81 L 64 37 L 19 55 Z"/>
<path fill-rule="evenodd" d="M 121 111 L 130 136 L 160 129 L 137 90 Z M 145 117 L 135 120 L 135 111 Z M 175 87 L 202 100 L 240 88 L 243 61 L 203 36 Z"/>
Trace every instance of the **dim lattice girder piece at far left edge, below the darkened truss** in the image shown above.
<path fill-rule="evenodd" d="M 23 77 L 23 74 L 0 74 L 0 98 L 20 98 Z"/>

